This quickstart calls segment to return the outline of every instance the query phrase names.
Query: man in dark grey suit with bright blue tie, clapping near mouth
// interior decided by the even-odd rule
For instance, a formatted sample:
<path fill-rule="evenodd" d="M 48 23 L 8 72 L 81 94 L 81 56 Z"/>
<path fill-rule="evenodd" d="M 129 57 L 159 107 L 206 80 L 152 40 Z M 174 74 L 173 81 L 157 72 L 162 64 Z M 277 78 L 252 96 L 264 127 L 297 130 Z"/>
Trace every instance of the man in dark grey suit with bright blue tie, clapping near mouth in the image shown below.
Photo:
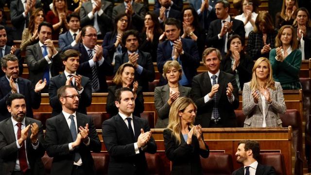
<path fill-rule="evenodd" d="M 26 63 L 32 86 L 41 79 L 46 79 L 49 85 L 50 78 L 58 75 L 62 68 L 60 54 L 52 42 L 52 32 L 52 24 L 42 22 L 38 26 L 39 42 L 26 48 Z M 48 88 L 44 88 L 43 92 L 48 92 Z"/>

